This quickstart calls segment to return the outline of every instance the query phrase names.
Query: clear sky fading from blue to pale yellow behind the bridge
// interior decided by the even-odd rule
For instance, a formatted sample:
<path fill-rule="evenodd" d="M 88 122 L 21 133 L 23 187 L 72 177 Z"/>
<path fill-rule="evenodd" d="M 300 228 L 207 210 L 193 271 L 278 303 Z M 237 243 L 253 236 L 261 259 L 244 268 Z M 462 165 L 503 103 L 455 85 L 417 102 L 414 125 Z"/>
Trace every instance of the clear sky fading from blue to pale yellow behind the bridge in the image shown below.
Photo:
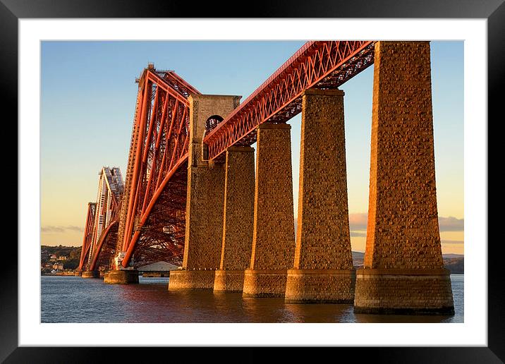
<path fill-rule="evenodd" d="M 42 245 L 81 245 L 102 166 L 126 171 L 140 75 L 171 69 L 203 94 L 245 100 L 300 42 L 42 42 Z M 443 253 L 463 254 L 463 42 L 431 42 L 437 202 Z M 353 250 L 365 250 L 373 66 L 341 85 Z M 291 119 L 298 207 L 300 121 Z M 253 145 L 255 146 L 255 145 Z"/>

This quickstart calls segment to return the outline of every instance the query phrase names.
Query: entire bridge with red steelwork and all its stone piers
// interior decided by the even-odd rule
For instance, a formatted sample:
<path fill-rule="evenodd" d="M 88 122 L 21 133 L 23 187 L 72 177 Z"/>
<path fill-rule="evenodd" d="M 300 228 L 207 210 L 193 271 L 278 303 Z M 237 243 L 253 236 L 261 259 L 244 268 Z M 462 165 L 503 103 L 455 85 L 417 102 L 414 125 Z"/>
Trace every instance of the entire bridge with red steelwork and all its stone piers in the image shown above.
<path fill-rule="evenodd" d="M 355 270 L 339 87 L 372 64 L 367 241 Z M 137 80 L 125 182 L 104 167 L 88 205 L 80 274 L 102 270 L 106 283 L 138 283 L 139 267 L 163 260 L 181 267 L 169 291 L 453 314 L 430 67 L 430 42 L 308 42 L 240 103 L 149 65 Z M 295 239 L 287 122 L 300 112 Z"/>

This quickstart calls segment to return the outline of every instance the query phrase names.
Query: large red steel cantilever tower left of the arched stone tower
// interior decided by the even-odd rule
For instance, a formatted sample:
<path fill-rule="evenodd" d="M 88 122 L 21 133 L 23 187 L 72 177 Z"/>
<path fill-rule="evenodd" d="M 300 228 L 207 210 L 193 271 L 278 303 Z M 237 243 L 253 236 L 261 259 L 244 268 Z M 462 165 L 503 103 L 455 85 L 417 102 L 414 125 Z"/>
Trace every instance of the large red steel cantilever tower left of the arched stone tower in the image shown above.
<path fill-rule="evenodd" d="M 156 217 L 155 205 L 164 205 L 168 210 L 185 210 L 181 196 L 164 196 L 164 189 L 171 178 L 185 181 L 176 171 L 188 158 L 189 102 L 187 97 L 199 94 L 193 86 L 185 83 L 174 71 L 157 71 L 150 66 L 139 80 L 138 112 L 135 113 L 132 145 L 126 176 L 124 233 L 119 239 L 121 251 L 126 253 L 121 265 L 128 267 L 131 257 L 142 257 L 142 263 L 152 260 L 179 260 L 183 244 L 174 234 L 163 233 L 167 226 L 181 224 L 175 217 Z M 174 188 L 173 188 L 174 189 Z M 170 196 L 169 196 L 170 195 Z M 168 197 L 167 197 L 168 196 Z M 156 210 L 156 209 L 154 209 Z M 182 222 L 183 224 L 183 222 Z M 146 225 L 154 231 L 148 231 Z M 177 241 L 174 248 L 174 239 Z M 178 246 L 181 245 L 181 246 Z M 175 250 L 174 250 L 175 249 Z M 138 259 L 136 259 L 138 260 Z"/>

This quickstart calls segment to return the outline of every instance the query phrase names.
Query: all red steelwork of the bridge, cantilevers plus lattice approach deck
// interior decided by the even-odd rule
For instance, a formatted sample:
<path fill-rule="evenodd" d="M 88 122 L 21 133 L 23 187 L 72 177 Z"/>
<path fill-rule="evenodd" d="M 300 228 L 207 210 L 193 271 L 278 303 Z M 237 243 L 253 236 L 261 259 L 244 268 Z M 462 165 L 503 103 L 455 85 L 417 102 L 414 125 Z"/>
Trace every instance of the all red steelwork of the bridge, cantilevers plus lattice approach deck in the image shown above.
<path fill-rule="evenodd" d="M 209 119 L 203 140 L 208 159 L 223 161 L 227 147 L 252 145 L 261 123 L 286 123 L 299 114 L 304 90 L 336 89 L 365 70 L 374 62 L 374 44 L 304 44 L 226 119 Z M 154 65 L 145 68 L 137 82 L 124 187 L 111 191 L 107 185 L 111 199 L 102 225 L 98 216 L 105 215 L 97 210 L 103 205 L 102 195 L 88 204 L 80 270 L 140 267 L 158 261 L 182 265 L 188 97 L 200 92 L 174 71 L 159 71 Z"/>

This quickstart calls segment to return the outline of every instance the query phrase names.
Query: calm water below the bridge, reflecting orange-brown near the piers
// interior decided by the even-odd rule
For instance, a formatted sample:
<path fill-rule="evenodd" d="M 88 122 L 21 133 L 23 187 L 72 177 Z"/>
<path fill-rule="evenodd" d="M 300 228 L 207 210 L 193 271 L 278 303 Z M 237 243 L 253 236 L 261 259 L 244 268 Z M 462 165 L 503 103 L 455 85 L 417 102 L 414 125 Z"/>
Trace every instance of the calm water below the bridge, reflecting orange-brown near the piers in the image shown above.
<path fill-rule="evenodd" d="M 169 292 L 168 278 L 140 284 L 42 277 L 42 322 L 463 322 L 463 274 L 451 274 L 454 316 L 354 314 L 352 305 L 288 304 L 241 293 Z"/>

